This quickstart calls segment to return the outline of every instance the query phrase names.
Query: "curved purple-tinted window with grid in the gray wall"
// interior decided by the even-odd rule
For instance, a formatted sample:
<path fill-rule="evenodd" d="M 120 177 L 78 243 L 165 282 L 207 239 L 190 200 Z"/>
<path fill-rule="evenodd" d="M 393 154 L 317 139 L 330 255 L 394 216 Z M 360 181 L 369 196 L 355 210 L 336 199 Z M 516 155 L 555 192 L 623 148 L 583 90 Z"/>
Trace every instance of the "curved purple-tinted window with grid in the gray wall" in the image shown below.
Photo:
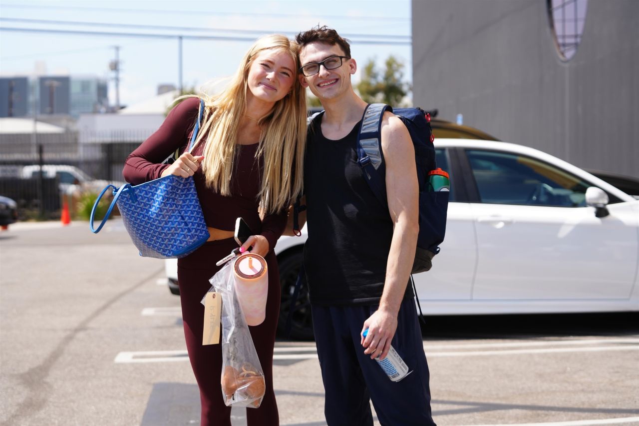
<path fill-rule="evenodd" d="M 573 58 L 581 42 L 588 0 L 546 0 L 557 52 L 564 61 Z"/>

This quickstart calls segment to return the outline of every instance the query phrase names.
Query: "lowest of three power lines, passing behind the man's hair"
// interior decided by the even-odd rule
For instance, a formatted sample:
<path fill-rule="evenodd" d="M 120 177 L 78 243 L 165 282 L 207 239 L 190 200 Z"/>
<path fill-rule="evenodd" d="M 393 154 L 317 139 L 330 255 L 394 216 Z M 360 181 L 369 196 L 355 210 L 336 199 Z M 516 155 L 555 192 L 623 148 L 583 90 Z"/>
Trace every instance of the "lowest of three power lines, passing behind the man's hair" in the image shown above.
<path fill-rule="evenodd" d="M 0 27 L 0 31 L 10 31 L 17 33 L 50 33 L 61 35 L 93 35 L 93 36 L 109 36 L 109 37 L 137 37 L 137 38 L 166 38 L 184 40 L 221 40 L 227 42 L 252 42 L 256 38 L 254 36 L 219 36 L 219 35 L 180 35 L 180 34 L 160 34 L 160 33 L 121 33 L 111 31 L 77 31 L 72 29 L 47 29 L 47 28 L 11 28 Z M 393 41 L 393 40 L 351 40 L 353 44 L 372 44 L 372 45 L 410 45 L 410 40 Z"/>

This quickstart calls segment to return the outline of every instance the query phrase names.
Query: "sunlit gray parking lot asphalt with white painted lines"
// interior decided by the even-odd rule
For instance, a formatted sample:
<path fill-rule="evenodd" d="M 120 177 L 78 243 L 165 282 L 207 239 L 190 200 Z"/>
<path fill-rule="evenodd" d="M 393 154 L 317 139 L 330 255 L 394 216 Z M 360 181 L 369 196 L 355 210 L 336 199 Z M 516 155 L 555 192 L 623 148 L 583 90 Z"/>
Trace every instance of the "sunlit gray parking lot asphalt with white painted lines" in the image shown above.
<path fill-rule="evenodd" d="M 120 221 L 0 233 L 0 342 L 3 425 L 199 423 L 179 298 Z M 639 424 L 636 313 L 426 317 L 424 351 L 438 425 Z M 314 343 L 273 363 L 280 423 L 325 425 Z"/>

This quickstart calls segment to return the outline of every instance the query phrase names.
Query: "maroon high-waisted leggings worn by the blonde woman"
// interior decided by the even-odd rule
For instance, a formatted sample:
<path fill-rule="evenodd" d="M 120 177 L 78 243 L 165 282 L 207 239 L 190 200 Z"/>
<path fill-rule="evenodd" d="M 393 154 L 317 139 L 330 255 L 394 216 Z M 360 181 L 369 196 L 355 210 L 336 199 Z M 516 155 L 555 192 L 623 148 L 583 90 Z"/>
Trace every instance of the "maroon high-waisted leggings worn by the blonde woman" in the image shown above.
<path fill-rule="evenodd" d="M 222 345 L 202 345 L 204 306 L 202 297 L 211 287 L 208 280 L 219 271 L 215 262 L 237 248 L 234 239 L 206 242 L 194 253 L 178 260 L 178 283 L 184 335 L 191 367 L 199 386 L 202 404 L 201 425 L 231 426 L 231 407 L 224 405 L 220 375 L 222 374 Z M 280 304 L 280 282 L 277 260 L 273 251 L 266 255 L 268 263 L 268 297 L 266 319 L 249 327 L 259 363 L 264 370 L 266 393 L 259 408 L 248 408 L 249 426 L 279 425 L 277 403 L 273 392 L 273 345 Z M 221 336 L 220 336 L 221 338 Z"/>

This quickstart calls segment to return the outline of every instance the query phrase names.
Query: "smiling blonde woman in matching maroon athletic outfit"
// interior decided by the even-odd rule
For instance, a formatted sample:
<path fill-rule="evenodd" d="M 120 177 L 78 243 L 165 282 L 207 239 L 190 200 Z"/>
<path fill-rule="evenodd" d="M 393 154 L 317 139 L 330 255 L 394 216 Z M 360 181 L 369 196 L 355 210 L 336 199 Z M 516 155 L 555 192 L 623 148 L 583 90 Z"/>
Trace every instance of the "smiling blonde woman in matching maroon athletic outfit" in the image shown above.
<path fill-rule="evenodd" d="M 247 409 L 250 426 L 277 425 L 273 393 L 273 345 L 280 302 L 275 242 L 286 226 L 287 207 L 302 189 L 306 138 L 305 92 L 297 79 L 297 45 L 286 36 L 260 38 L 242 59 L 226 90 L 205 97 L 196 147 L 171 165 L 159 164 L 187 145 L 199 113 L 199 99 L 183 100 L 165 122 L 128 157 L 127 182 L 141 184 L 169 174 L 194 176 L 210 239 L 178 260 L 178 281 L 189 359 L 199 386 L 201 425 L 231 425 L 231 408 L 220 389 L 221 345 L 202 345 L 200 301 L 215 262 L 237 247 L 235 219 L 243 217 L 255 235 L 243 245 L 268 262 L 266 319 L 249 327 L 265 373 L 266 394 Z"/>

